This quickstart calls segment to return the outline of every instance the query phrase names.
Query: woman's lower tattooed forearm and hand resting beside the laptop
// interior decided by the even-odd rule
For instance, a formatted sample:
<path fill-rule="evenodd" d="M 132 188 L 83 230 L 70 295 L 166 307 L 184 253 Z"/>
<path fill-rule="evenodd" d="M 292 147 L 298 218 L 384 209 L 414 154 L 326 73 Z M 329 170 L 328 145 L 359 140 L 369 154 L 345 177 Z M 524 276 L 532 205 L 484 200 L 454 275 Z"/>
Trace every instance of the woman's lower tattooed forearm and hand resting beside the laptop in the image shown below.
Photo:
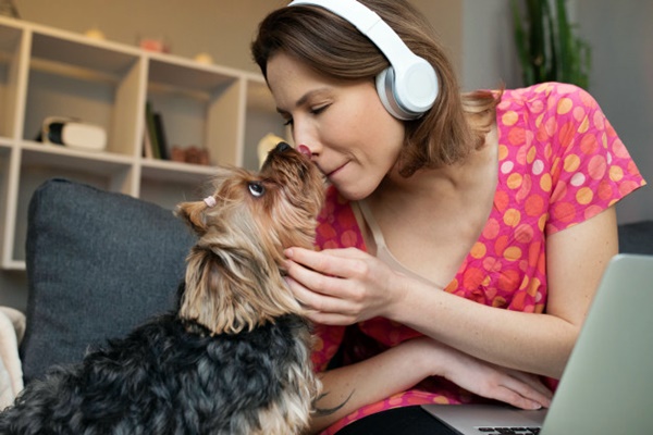
<path fill-rule="evenodd" d="M 326 427 L 366 405 L 405 391 L 433 375 L 518 408 L 538 409 L 551 402 L 551 391 L 535 376 L 488 364 L 422 337 L 359 363 L 324 372 L 321 377 L 324 395 L 317 408 L 337 410 L 313 417 L 311 431 Z"/>

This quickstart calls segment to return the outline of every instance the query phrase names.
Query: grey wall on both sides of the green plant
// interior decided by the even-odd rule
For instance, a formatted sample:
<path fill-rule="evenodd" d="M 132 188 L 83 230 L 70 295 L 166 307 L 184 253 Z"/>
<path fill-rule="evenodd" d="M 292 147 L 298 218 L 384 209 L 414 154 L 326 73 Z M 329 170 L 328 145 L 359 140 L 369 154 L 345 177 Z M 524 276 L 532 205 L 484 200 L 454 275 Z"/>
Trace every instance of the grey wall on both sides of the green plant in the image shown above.
<path fill-rule="evenodd" d="M 520 86 L 509 0 L 461 0 L 463 86 Z M 653 1 L 570 0 L 569 15 L 592 46 L 590 92 L 653 183 Z M 617 204 L 620 223 L 653 220 L 653 188 Z"/>

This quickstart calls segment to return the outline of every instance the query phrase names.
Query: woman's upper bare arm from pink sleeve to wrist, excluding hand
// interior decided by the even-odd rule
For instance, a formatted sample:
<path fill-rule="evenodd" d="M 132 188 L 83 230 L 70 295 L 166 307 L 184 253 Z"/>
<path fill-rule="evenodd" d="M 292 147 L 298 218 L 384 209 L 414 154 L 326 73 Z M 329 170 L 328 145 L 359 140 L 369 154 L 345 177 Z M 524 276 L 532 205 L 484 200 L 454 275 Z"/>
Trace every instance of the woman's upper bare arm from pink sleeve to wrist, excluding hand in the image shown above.
<path fill-rule="evenodd" d="M 404 303 L 390 315 L 482 360 L 559 378 L 603 271 L 618 251 L 614 208 L 550 236 L 546 244 L 545 314 L 497 310 L 422 287 L 404 291 Z M 428 321 L 429 312 L 435 321 Z"/>

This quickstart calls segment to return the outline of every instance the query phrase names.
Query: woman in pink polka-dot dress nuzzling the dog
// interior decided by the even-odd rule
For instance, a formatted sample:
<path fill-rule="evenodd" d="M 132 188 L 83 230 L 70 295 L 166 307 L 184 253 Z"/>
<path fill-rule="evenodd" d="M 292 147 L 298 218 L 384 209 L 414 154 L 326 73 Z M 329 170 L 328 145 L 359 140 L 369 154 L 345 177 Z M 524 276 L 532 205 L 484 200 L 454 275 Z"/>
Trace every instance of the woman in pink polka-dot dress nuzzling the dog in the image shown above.
<path fill-rule="evenodd" d="M 587 92 L 460 95 L 414 8 L 360 2 L 435 69 L 422 116 L 385 110 L 374 77 L 387 60 L 323 8 L 274 11 L 252 42 L 295 142 L 331 185 L 321 250 L 286 251 L 288 285 L 319 325 L 318 406 L 340 406 L 312 431 L 427 402 L 547 407 L 617 252 L 614 203 L 644 182 Z"/>

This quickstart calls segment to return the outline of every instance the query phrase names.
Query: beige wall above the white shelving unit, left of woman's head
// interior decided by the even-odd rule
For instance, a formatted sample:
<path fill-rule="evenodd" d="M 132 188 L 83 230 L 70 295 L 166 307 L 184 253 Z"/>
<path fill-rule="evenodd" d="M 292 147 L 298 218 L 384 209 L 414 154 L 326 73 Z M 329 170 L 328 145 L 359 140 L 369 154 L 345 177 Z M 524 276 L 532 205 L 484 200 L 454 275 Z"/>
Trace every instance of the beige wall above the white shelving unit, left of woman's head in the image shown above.
<path fill-rule="evenodd" d="M 248 45 L 258 22 L 284 0 L 14 0 L 21 17 L 84 33 L 97 27 L 107 39 L 135 45 L 165 38 L 172 52 L 208 52 L 215 63 L 255 71 Z"/>

